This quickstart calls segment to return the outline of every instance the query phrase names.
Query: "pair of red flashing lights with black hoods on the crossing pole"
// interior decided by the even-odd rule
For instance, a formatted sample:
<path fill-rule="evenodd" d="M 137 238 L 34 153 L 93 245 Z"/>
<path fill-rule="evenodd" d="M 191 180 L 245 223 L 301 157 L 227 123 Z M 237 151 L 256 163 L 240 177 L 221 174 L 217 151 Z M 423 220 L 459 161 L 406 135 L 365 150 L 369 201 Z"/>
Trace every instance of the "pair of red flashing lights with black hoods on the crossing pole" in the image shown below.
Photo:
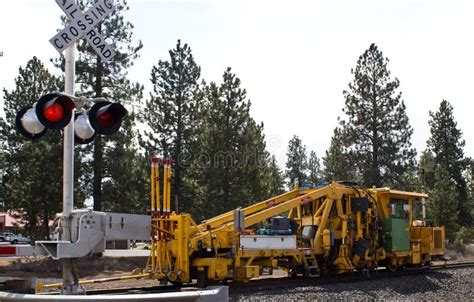
<path fill-rule="evenodd" d="M 71 121 L 76 105 L 73 99 L 80 99 L 62 93 L 49 93 L 42 96 L 32 107 L 21 109 L 15 119 L 18 132 L 29 139 L 38 139 L 47 129 L 60 130 Z M 83 99 L 82 99 L 83 100 Z M 110 135 L 120 129 L 127 110 L 118 103 L 103 100 L 75 115 L 75 142 L 87 144 L 96 134 Z"/>

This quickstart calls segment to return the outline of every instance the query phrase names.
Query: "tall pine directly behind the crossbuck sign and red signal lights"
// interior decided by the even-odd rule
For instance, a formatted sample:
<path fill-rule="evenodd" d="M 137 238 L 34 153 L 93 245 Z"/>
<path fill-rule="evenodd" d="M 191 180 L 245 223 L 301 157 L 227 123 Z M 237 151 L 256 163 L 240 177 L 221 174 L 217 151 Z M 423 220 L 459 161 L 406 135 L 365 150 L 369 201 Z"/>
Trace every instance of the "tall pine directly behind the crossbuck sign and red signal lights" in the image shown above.
<path fill-rule="evenodd" d="M 90 4 L 88 0 L 78 1 L 81 9 L 84 9 L 88 4 Z M 123 16 L 124 12 L 128 9 L 127 1 L 119 1 L 112 14 L 96 26 L 97 31 L 107 37 L 106 41 L 116 51 L 115 57 L 110 61 L 103 62 L 86 39 L 79 40 L 77 45 L 79 56 L 76 62 L 76 82 L 78 83 L 76 94 L 88 97 L 106 97 L 110 101 L 126 105 L 126 108 L 133 112 L 138 109 L 135 106 L 138 103 L 138 98 L 141 96 L 143 87 L 139 84 L 131 83 L 127 79 L 127 73 L 134 60 L 138 58 L 138 52 L 143 45 L 141 41 L 136 45 L 132 43 L 133 25 L 126 21 Z M 62 21 L 64 25 L 66 20 L 63 18 Z M 64 70 L 63 57 L 53 60 L 53 62 Z M 124 119 L 134 118 L 135 114 L 129 114 Z M 127 124 L 127 122 L 124 124 Z M 129 125 L 134 127 L 135 121 L 131 120 Z M 126 180 L 127 177 L 125 175 L 130 171 L 117 169 L 114 165 L 120 159 L 106 160 L 106 153 L 110 152 L 112 148 L 120 147 L 128 148 L 128 154 L 137 154 L 138 156 L 138 152 L 134 147 L 133 136 L 124 135 L 131 132 L 122 128 L 120 133 L 112 136 L 97 135 L 94 139 L 93 150 L 91 150 L 91 146 L 84 146 L 81 149 L 76 148 L 82 154 L 82 158 L 86 159 L 86 162 L 83 163 L 85 166 L 84 170 L 92 174 L 83 175 L 83 179 L 84 181 L 89 181 L 91 177 L 93 178 L 92 184 L 86 183 L 85 185 L 92 187 L 94 210 L 97 211 L 110 208 L 103 205 L 105 202 L 117 202 L 116 199 L 111 199 L 110 195 L 105 196 L 103 194 L 105 176 L 110 178 L 111 181 L 118 182 L 120 179 Z M 91 158 L 91 160 L 87 160 L 88 158 Z M 142 164 L 145 169 L 144 165 L 146 163 Z M 131 179 L 133 176 L 130 175 L 129 178 Z M 117 183 L 113 187 L 109 186 L 109 189 L 116 188 L 121 190 L 120 188 L 126 186 L 126 184 L 122 186 Z M 139 192 L 142 190 L 143 188 L 135 187 L 134 192 L 129 193 L 139 195 Z M 116 191 L 113 194 L 119 195 L 120 192 Z M 124 200 L 123 202 L 128 201 Z"/>

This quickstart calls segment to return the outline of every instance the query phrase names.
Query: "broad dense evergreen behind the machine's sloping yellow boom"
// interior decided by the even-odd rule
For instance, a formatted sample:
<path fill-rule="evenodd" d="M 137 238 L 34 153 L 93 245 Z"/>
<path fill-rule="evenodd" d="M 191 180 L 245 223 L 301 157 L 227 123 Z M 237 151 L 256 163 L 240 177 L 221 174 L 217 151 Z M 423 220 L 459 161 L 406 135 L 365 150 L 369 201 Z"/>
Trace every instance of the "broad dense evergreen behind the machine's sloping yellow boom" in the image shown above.
<path fill-rule="evenodd" d="M 268 153 L 263 125 L 251 118 L 246 91 L 230 68 L 223 83 L 211 82 L 204 95 L 199 153 L 191 169 L 198 188 L 193 210 L 198 217 L 211 217 L 268 194 L 268 182 L 259 179 L 266 175 Z"/>

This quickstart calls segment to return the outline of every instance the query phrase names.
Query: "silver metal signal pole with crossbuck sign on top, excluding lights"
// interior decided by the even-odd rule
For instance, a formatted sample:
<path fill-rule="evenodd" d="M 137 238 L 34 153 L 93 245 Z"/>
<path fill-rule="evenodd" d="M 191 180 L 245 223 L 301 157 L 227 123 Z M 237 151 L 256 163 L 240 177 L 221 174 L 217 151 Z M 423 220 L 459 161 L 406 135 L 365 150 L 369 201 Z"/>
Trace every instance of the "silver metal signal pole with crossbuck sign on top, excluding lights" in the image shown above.
<path fill-rule="evenodd" d="M 81 8 L 76 3 L 76 0 L 56 0 L 56 4 L 58 4 L 68 17 L 69 23 L 49 41 L 60 53 L 62 53 L 63 50 L 66 50 L 64 90 L 69 96 L 74 96 L 76 73 L 75 48 L 77 40 L 82 37 L 86 38 L 89 45 L 94 48 L 97 54 L 104 61 L 112 59 L 115 55 L 114 49 L 107 44 L 105 38 L 93 29 L 94 26 L 115 10 L 115 5 L 113 4 L 113 1 L 110 0 L 97 0 L 94 2 L 94 5 L 89 7 L 86 12 L 82 12 Z M 81 18 L 85 18 L 84 14 L 88 13 L 91 13 L 94 18 L 92 18 L 91 15 L 88 15 L 89 19 L 86 18 L 88 22 L 86 22 L 86 24 L 81 23 Z M 93 39 L 92 36 L 89 37 L 86 35 L 88 32 L 94 34 Z M 119 112 L 122 112 L 119 117 L 121 120 L 123 115 L 125 115 L 126 110 L 122 106 Z M 78 236 L 77 230 L 73 230 L 71 227 L 71 217 L 74 207 L 74 119 L 73 111 L 71 120 L 64 128 L 63 149 L 63 217 L 61 221 L 61 240 L 69 242 L 76 241 Z M 79 294 L 84 292 L 82 286 L 79 285 L 79 277 L 74 263 L 74 258 L 63 259 L 62 293 L 64 294 Z"/>

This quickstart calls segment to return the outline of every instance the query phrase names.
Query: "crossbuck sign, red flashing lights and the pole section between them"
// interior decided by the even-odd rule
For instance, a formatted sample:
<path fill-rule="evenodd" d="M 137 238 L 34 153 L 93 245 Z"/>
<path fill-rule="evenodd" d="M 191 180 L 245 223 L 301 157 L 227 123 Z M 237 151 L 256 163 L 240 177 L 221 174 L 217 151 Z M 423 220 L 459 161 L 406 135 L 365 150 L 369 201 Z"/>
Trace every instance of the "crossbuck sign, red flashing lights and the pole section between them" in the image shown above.
<path fill-rule="evenodd" d="M 112 1 L 98 0 L 83 13 L 75 0 L 56 0 L 56 4 L 68 17 L 69 24 L 49 42 L 59 53 L 62 53 L 65 49 L 72 47 L 74 42 L 85 37 L 103 61 L 112 59 L 115 51 L 94 29 L 94 26 L 115 10 Z M 69 59 L 71 60 L 71 58 Z M 74 55 L 72 55 L 71 61 L 74 64 Z M 66 68 L 66 78 L 68 78 L 67 70 L 68 68 Z M 72 71 L 72 83 L 74 82 L 73 77 L 74 71 Z M 75 99 L 78 98 L 63 93 L 44 95 L 32 107 L 23 108 L 18 112 L 15 119 L 16 128 L 23 136 L 29 139 L 38 139 L 46 134 L 47 129 L 66 127 L 74 114 L 74 141 L 87 144 L 94 139 L 96 134 L 110 135 L 117 132 L 127 113 L 121 104 L 111 103 L 103 98 L 92 106 L 89 114 L 84 109 L 76 112 Z"/>

